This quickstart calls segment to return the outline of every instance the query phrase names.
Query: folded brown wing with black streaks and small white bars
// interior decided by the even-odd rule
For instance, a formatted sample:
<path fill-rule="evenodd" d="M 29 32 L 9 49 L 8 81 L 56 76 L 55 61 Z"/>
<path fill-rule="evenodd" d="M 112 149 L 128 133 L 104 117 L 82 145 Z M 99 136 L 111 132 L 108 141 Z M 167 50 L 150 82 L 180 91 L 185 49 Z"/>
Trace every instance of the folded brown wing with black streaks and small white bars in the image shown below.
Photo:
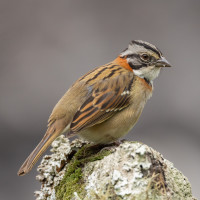
<path fill-rule="evenodd" d="M 71 133 L 104 122 L 130 103 L 130 88 L 134 75 L 123 72 L 114 78 L 99 80 L 90 86 L 91 93 L 74 115 Z"/>

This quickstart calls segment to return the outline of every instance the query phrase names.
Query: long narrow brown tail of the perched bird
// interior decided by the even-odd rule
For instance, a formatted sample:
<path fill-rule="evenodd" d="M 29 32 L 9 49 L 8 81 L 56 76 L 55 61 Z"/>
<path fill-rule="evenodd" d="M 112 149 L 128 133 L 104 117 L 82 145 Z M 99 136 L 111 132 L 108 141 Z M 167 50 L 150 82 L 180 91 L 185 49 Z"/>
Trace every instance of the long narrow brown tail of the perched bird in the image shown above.
<path fill-rule="evenodd" d="M 38 159 L 41 157 L 41 155 L 47 150 L 47 148 L 51 145 L 51 143 L 58 137 L 60 134 L 62 134 L 63 129 L 56 130 L 54 127 L 49 127 L 47 129 L 46 134 L 40 141 L 40 143 L 36 146 L 36 148 L 32 151 L 32 153 L 28 156 L 28 158 L 25 160 L 25 162 L 22 164 L 18 171 L 19 176 L 23 176 L 27 174 L 35 163 L 38 161 Z"/>

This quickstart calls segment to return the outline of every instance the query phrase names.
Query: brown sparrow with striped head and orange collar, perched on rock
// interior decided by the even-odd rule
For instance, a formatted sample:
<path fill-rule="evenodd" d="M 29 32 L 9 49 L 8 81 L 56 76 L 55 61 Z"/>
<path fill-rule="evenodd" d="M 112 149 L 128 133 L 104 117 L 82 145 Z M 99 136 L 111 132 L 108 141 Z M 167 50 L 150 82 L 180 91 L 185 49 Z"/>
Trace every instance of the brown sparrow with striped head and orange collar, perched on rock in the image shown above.
<path fill-rule="evenodd" d="M 170 64 L 157 47 L 135 40 L 115 60 L 79 78 L 54 107 L 44 137 L 18 175 L 27 174 L 60 134 L 79 135 L 97 144 L 127 134 L 151 97 L 153 80 L 163 67 Z"/>

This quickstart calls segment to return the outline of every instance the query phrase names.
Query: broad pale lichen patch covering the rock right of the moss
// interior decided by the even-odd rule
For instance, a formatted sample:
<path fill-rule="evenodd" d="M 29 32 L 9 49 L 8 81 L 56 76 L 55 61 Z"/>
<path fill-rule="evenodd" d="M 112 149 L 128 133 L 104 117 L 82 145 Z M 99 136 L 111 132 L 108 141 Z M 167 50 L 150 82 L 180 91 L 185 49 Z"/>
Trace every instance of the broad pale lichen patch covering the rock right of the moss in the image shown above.
<path fill-rule="evenodd" d="M 84 199 L 94 198 L 94 193 L 103 199 L 108 188 L 110 194 L 116 195 L 115 198 L 124 200 L 192 199 L 190 184 L 183 174 L 160 153 L 144 144 L 125 142 L 112 154 L 89 163 L 85 168 L 92 169 L 92 172 L 87 174 L 86 170 L 84 173 L 87 191 Z M 167 177 L 169 173 L 173 176 Z M 186 180 L 182 185 L 182 179 L 177 180 L 177 173 Z M 171 184 L 168 184 L 169 180 Z M 160 185 L 156 186 L 157 183 Z M 179 191 L 176 190 L 177 184 Z"/>

